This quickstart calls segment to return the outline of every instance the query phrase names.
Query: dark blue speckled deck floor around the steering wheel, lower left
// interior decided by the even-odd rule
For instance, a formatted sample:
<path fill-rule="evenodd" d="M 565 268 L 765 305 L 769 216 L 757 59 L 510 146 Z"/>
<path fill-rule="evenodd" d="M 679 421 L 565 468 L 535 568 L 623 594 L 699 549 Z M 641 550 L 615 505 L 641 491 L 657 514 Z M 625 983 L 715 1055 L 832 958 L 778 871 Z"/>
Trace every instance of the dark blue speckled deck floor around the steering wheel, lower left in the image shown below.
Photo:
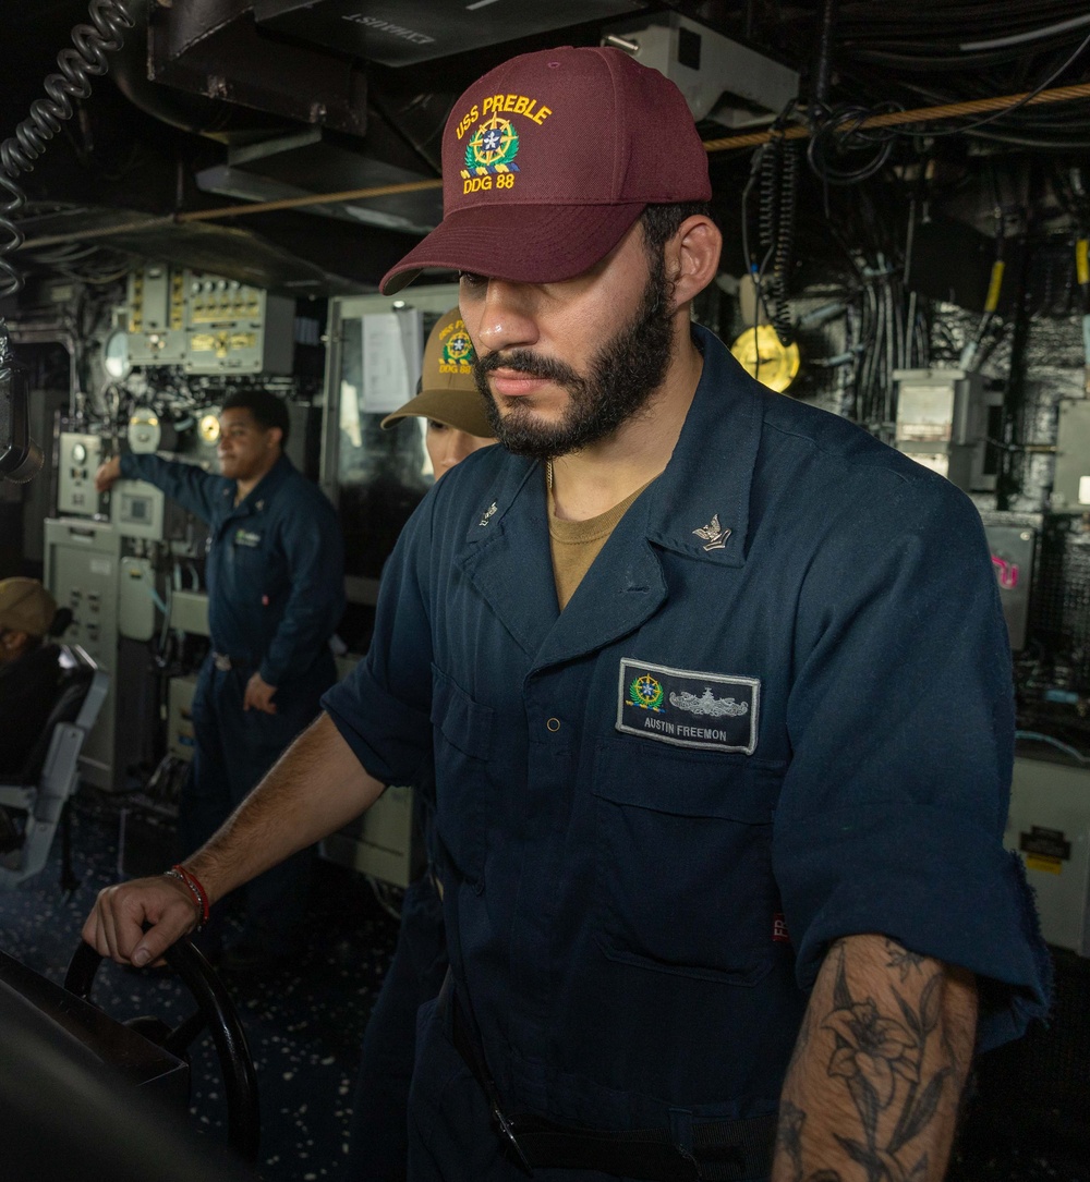
<path fill-rule="evenodd" d="M 4 952 L 52 981 L 64 980 L 95 895 L 117 881 L 117 831 L 113 808 L 78 798 L 72 862 L 82 885 L 69 898 L 61 894 L 58 838 L 37 878 L 0 891 Z M 311 947 L 298 963 L 265 979 L 228 982 L 258 1070 L 264 1182 L 346 1178 L 340 1165 L 359 1044 L 397 934 L 366 882 L 329 863 L 316 865 L 307 927 Z M 96 974 L 92 998 L 117 1019 L 153 1014 L 171 1026 L 194 1008 L 175 979 L 109 963 Z M 226 1105 L 210 1039 L 193 1048 L 192 1061 L 194 1119 L 222 1141 Z"/>

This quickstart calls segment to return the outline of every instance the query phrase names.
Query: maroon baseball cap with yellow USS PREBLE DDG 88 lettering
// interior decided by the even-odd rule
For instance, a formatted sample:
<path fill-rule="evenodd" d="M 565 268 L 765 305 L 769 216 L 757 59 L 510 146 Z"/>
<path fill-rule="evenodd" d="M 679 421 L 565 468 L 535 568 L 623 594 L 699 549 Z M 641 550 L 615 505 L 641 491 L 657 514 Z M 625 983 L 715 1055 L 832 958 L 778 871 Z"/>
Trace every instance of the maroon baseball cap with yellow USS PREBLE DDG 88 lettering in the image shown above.
<path fill-rule="evenodd" d="M 593 266 L 644 206 L 708 201 L 708 157 L 681 91 L 622 50 L 512 58 L 454 104 L 443 131 L 443 220 L 396 267 L 554 282 Z"/>

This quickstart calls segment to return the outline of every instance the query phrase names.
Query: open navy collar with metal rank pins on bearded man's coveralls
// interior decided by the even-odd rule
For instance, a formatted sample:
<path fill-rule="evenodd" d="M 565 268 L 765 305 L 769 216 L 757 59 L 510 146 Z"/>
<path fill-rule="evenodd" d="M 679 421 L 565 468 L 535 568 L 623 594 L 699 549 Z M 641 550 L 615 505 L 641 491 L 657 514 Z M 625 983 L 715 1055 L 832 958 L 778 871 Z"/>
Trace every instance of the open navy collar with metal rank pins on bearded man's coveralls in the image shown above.
<path fill-rule="evenodd" d="M 638 628 L 667 598 L 657 548 L 741 566 L 750 482 L 763 407 L 726 348 L 693 329 L 703 371 L 674 455 L 636 500 L 562 613 L 549 547 L 541 466 L 512 456 L 487 505 L 474 507 L 459 564 L 512 637 L 541 668 L 609 644 Z M 726 418 L 729 450 L 709 456 Z"/>

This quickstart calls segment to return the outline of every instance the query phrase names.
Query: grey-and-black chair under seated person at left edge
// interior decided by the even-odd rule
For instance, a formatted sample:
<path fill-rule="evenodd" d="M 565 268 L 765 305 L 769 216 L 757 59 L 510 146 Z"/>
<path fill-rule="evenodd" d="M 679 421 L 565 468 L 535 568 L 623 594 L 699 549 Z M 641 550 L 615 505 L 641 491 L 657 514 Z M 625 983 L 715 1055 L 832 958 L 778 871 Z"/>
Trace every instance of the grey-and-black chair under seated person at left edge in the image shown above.
<path fill-rule="evenodd" d="M 0 782 L 8 846 L 0 855 L 0 889 L 18 886 L 45 866 L 65 801 L 79 782 L 79 753 L 110 684 L 78 644 L 59 648 L 63 673 L 53 709 L 15 782 Z"/>

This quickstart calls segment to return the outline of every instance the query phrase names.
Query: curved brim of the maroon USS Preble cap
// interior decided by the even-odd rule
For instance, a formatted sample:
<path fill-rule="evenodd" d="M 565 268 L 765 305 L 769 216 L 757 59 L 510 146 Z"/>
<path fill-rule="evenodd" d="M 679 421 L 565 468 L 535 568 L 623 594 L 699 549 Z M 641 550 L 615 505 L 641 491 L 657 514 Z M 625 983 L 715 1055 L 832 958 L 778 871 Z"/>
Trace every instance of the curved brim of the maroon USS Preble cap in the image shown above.
<path fill-rule="evenodd" d="M 638 203 L 458 209 L 383 275 L 378 290 L 392 296 L 426 267 L 520 284 L 571 279 L 609 254 L 644 208 Z"/>

